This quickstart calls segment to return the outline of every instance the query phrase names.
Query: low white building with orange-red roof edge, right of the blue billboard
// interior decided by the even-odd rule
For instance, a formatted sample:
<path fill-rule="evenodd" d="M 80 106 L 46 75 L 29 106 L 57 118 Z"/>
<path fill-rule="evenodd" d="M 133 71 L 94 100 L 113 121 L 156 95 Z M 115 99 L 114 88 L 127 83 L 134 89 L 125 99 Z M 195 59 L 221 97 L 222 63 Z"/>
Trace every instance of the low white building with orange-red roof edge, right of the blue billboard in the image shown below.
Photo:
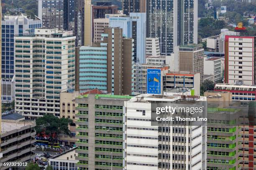
<path fill-rule="evenodd" d="M 168 72 L 165 77 L 164 91 L 174 88 L 194 89 L 194 94 L 200 96 L 200 73 L 193 72 Z"/>

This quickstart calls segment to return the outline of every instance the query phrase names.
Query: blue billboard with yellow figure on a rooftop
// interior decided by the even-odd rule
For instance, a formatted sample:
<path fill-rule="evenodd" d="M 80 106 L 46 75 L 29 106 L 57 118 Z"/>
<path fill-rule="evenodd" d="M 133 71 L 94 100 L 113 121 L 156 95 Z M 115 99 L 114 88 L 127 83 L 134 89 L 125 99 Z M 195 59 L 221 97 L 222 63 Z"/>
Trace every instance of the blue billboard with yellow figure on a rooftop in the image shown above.
<path fill-rule="evenodd" d="M 161 69 L 147 69 L 147 93 L 161 94 Z"/>

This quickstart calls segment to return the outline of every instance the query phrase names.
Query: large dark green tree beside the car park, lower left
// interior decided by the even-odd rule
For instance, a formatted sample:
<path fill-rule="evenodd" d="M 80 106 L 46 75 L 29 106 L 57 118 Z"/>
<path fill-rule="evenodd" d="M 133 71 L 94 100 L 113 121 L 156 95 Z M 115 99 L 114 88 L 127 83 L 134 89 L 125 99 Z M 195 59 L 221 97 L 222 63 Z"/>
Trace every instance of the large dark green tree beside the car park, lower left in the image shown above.
<path fill-rule="evenodd" d="M 60 134 L 70 134 L 68 125 L 72 123 L 72 120 L 67 118 L 58 118 L 54 115 L 44 115 L 36 119 L 36 132 L 40 135 L 48 135 L 51 148 L 54 143 L 57 143 Z"/>

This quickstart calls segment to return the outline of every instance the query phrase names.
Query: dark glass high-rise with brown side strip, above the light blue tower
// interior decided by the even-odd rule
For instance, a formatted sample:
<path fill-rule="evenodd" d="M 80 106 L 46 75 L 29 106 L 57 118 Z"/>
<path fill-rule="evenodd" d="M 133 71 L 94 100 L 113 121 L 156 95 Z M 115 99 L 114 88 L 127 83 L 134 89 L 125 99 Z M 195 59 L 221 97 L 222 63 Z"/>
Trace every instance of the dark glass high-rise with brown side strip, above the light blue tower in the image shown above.
<path fill-rule="evenodd" d="M 123 14 L 146 13 L 146 0 L 123 0 Z"/>

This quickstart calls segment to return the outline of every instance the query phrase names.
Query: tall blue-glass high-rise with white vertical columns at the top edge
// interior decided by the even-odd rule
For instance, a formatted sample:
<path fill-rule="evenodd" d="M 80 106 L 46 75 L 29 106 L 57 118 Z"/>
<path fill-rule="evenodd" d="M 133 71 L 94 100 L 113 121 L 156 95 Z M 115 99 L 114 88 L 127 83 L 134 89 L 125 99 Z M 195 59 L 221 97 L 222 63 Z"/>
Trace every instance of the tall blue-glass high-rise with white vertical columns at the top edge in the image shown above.
<path fill-rule="evenodd" d="M 178 45 L 197 43 L 197 0 L 151 0 L 146 3 L 147 37 L 159 37 L 162 55 Z"/>

